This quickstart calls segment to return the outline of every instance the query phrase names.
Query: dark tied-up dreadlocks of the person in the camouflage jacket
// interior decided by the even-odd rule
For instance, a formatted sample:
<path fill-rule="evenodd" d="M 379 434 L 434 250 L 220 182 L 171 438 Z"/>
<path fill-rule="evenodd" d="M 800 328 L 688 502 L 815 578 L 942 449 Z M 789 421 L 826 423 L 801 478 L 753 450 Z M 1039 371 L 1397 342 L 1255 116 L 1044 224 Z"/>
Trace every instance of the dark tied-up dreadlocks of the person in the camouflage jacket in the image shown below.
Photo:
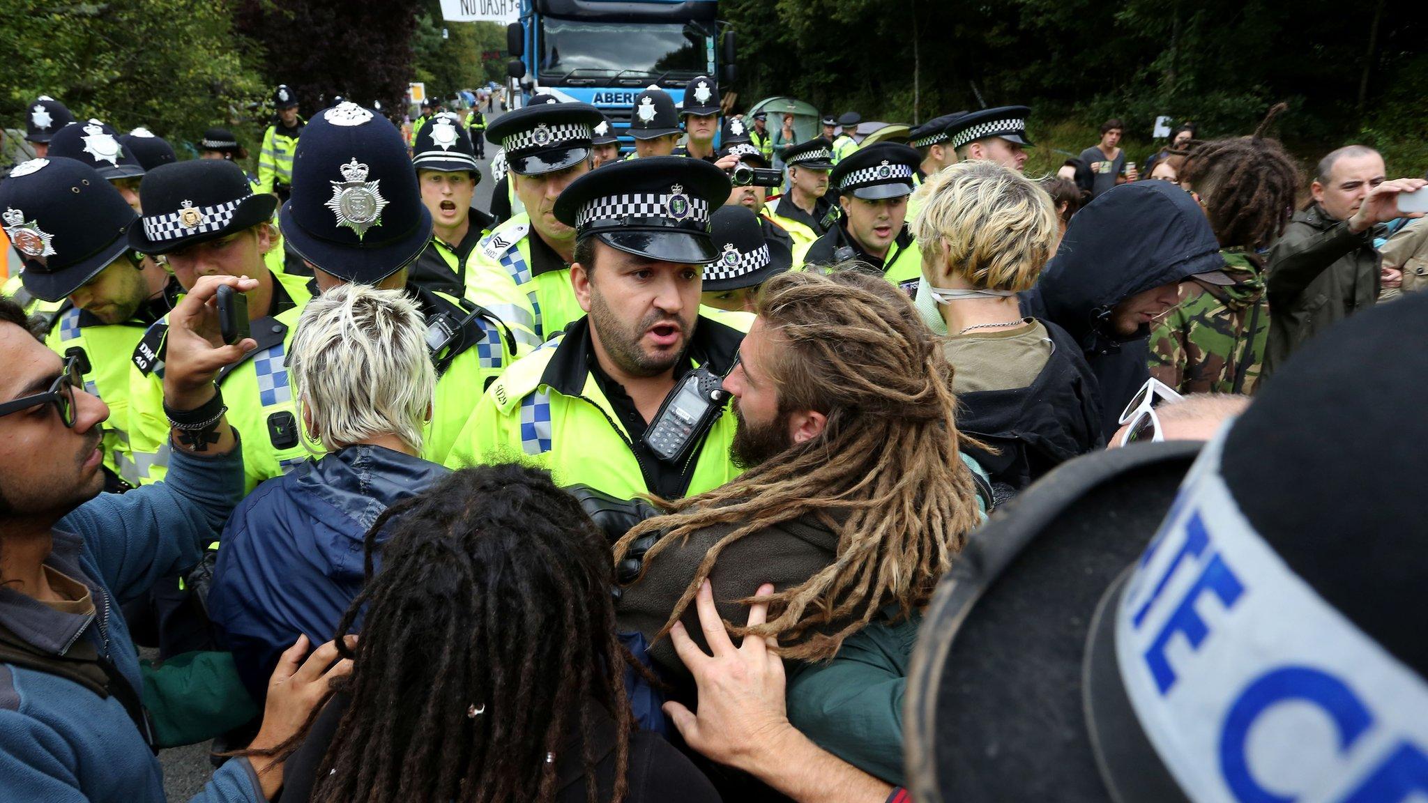
<path fill-rule="evenodd" d="M 1200 193 L 1224 247 L 1264 247 L 1289 223 L 1299 169 L 1279 140 L 1264 136 L 1285 109 L 1275 104 L 1248 137 L 1201 143 L 1180 170 L 1181 183 Z"/>

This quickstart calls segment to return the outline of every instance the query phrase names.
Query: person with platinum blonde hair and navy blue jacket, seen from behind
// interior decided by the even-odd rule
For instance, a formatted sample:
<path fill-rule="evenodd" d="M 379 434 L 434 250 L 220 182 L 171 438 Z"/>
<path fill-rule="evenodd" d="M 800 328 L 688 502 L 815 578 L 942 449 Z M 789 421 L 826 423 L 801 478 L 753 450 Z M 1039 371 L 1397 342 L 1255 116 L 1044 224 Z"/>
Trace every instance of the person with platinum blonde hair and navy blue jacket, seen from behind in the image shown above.
<path fill-rule="evenodd" d="M 284 646 L 327 642 L 361 590 L 377 517 L 447 474 L 420 457 L 436 371 L 400 290 L 343 284 L 308 301 L 287 370 L 306 437 L 327 453 L 238 504 L 208 596 L 218 643 L 260 703 Z"/>

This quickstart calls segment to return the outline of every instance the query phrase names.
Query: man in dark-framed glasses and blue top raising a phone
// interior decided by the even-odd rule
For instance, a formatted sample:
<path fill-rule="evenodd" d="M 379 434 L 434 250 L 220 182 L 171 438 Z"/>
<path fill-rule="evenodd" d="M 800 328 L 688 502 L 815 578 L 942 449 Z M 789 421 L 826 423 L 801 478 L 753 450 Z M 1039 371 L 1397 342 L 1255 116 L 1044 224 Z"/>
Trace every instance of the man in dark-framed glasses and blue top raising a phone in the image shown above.
<path fill-rule="evenodd" d="M 218 341 L 206 277 L 170 314 L 164 412 L 169 482 L 101 494 L 100 432 L 110 410 L 86 393 L 79 357 L 44 347 L 19 304 L 0 299 L 0 772 L 7 800 L 161 800 L 154 722 L 121 604 L 198 563 L 243 494 L 237 433 L 218 371 L 256 347 Z M 276 747 L 346 672 L 327 644 L 298 669 L 306 640 L 274 673 L 254 747 Z M 277 699 L 274 700 L 274 694 Z M 276 772 L 274 772 L 276 770 Z M 257 802 L 283 783 L 281 762 L 224 764 L 196 800 Z"/>

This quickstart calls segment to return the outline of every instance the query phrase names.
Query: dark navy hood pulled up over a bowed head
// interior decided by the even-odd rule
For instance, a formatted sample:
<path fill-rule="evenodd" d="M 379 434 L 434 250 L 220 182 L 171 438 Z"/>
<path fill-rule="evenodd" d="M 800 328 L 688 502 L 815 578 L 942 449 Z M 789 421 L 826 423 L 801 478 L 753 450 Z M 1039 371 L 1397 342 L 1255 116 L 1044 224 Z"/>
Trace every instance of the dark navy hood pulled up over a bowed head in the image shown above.
<path fill-rule="evenodd" d="M 1030 314 L 1067 330 L 1084 350 L 1130 337 L 1107 323 L 1122 300 L 1224 264 L 1195 199 L 1170 181 L 1135 181 L 1105 191 L 1071 219 L 1037 286 L 1022 293 Z"/>

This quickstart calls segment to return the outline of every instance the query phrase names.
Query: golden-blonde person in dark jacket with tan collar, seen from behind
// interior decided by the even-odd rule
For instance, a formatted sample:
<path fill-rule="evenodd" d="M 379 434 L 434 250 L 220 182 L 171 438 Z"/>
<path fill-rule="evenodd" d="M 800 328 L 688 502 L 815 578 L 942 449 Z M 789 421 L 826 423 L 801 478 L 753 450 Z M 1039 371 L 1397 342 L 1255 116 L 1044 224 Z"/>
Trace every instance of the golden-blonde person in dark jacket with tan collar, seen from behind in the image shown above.
<path fill-rule="evenodd" d="M 1022 314 L 1017 299 L 1054 253 L 1057 211 L 1035 181 L 985 160 L 952 164 L 918 193 L 918 307 L 948 334 L 957 429 L 994 447 L 967 452 L 1001 497 L 1102 444 L 1095 379 L 1080 347 Z"/>

